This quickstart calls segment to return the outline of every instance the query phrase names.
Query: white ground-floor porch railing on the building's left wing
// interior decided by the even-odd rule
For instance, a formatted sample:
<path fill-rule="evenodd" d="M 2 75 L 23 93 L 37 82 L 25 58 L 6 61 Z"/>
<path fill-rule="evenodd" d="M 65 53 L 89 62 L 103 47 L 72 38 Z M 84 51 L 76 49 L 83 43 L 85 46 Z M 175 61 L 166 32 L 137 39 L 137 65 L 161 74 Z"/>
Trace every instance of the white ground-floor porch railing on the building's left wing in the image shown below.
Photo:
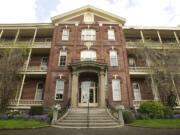
<path fill-rule="evenodd" d="M 19 106 L 33 106 L 33 105 L 42 105 L 43 100 L 30 100 L 30 99 L 21 99 L 19 101 Z M 9 101 L 10 106 L 16 106 L 18 104 L 18 100 L 12 99 Z"/>

